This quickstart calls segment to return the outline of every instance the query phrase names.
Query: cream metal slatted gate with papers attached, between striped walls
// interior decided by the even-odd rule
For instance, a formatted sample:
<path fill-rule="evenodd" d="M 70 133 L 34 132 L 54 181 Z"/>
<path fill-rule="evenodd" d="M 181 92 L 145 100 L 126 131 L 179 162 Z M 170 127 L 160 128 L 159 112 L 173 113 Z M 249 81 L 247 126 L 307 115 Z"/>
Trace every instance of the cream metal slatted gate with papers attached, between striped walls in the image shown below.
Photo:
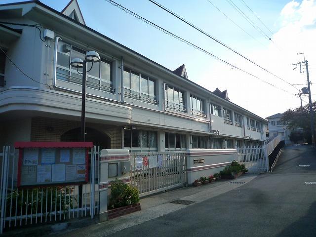
<path fill-rule="evenodd" d="M 153 167 L 150 163 L 146 165 L 144 162 L 151 157 L 158 159 L 158 164 Z M 138 189 L 140 196 L 183 186 L 187 183 L 186 151 L 130 153 L 130 158 L 132 164 L 131 186 Z M 139 162 L 140 159 L 143 162 L 141 167 L 138 165 L 139 169 L 137 169 L 137 160 Z"/>

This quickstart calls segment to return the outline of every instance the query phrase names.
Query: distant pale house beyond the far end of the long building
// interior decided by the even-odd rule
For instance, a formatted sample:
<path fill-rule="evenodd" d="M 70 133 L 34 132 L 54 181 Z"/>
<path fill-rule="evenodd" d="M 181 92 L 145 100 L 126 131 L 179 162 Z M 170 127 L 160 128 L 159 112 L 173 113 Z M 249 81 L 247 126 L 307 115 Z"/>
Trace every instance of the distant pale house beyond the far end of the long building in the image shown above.
<path fill-rule="evenodd" d="M 276 136 L 281 136 L 281 140 L 284 140 L 285 144 L 292 143 L 290 141 L 291 130 L 286 128 L 286 125 L 282 124 L 281 118 L 283 118 L 283 114 L 277 113 L 275 115 L 269 116 L 268 119 L 268 129 L 269 129 L 269 139 Z"/>

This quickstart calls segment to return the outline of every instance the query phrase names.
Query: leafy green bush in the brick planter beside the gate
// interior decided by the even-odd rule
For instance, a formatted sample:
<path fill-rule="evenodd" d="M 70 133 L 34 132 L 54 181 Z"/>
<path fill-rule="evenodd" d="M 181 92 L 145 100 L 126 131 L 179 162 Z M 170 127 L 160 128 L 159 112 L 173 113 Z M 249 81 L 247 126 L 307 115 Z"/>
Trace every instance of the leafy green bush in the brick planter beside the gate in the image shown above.
<path fill-rule="evenodd" d="M 128 206 L 137 202 L 139 202 L 139 193 L 136 188 L 132 188 L 118 179 L 111 182 L 109 209 Z"/>

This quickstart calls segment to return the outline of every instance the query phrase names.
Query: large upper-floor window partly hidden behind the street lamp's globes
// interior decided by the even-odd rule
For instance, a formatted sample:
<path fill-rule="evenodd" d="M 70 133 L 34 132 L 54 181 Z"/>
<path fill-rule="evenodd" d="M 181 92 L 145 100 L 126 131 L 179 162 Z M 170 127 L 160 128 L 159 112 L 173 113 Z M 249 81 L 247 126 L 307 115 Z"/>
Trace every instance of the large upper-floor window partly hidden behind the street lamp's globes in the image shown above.
<path fill-rule="evenodd" d="M 57 52 L 57 68 L 56 78 L 59 80 L 69 81 L 76 84 L 82 84 L 82 68 L 78 71 L 76 68 L 70 66 L 70 62 L 74 58 L 85 58 L 86 51 L 74 45 L 58 41 Z M 87 63 L 87 71 L 91 68 L 92 63 Z M 79 72 L 79 73 L 78 73 Z M 98 63 L 93 63 L 89 72 L 87 72 L 87 87 L 114 93 L 111 78 L 111 62 L 101 58 Z"/>

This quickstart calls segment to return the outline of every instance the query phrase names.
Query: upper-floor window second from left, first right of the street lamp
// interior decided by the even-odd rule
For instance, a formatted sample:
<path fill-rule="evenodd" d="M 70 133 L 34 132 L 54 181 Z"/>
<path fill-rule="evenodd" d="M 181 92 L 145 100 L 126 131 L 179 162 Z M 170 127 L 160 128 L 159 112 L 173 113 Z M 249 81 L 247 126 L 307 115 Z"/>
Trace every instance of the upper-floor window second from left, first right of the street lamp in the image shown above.
<path fill-rule="evenodd" d="M 155 81 L 148 76 L 124 67 L 123 86 L 124 96 L 155 105 L 158 104 Z"/>

